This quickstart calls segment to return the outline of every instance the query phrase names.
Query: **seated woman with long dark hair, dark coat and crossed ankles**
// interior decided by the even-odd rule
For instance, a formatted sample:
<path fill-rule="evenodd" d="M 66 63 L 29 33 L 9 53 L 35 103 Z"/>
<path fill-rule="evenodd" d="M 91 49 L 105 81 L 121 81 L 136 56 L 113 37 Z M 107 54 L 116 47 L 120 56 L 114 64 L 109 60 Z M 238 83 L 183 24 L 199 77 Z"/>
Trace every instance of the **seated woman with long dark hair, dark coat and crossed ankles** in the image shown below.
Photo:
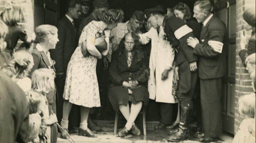
<path fill-rule="evenodd" d="M 149 92 L 146 83 L 131 81 L 132 75 L 142 67 L 143 52 L 140 48 L 139 37 L 127 33 L 119 44 L 119 50 L 112 54 L 109 67 L 110 87 L 109 100 L 115 111 L 121 111 L 127 123 L 118 132 L 119 136 L 126 136 L 131 130 L 134 135 L 140 135 L 140 130 L 134 124 L 141 108 L 142 102 L 148 104 Z M 128 101 L 132 102 L 131 111 Z"/>

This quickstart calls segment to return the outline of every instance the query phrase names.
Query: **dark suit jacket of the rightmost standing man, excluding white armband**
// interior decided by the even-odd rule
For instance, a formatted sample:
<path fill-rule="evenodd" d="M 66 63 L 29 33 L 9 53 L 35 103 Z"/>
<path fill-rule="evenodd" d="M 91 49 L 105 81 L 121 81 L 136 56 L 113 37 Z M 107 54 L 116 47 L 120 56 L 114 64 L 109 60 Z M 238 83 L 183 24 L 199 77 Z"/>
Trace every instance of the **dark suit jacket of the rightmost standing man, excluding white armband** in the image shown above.
<path fill-rule="evenodd" d="M 223 43 L 221 53 L 213 50 L 208 45 L 208 41 L 218 41 Z M 194 54 L 199 56 L 198 72 L 200 79 L 215 79 L 225 75 L 226 71 L 226 52 L 227 52 L 226 26 L 213 16 L 203 27 L 199 44 L 194 48 Z"/>

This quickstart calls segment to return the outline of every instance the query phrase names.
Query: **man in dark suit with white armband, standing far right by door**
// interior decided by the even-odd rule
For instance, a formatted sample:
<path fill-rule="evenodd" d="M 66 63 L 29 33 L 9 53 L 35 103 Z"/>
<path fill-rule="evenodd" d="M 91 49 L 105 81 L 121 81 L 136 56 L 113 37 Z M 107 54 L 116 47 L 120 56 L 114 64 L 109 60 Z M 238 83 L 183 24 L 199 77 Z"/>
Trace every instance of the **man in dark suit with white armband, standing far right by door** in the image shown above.
<path fill-rule="evenodd" d="M 200 78 L 203 142 L 212 142 L 222 134 L 222 77 L 226 71 L 226 26 L 212 14 L 210 0 L 194 3 L 194 18 L 202 22 L 200 39 L 189 37 L 188 45 L 198 58 Z"/>

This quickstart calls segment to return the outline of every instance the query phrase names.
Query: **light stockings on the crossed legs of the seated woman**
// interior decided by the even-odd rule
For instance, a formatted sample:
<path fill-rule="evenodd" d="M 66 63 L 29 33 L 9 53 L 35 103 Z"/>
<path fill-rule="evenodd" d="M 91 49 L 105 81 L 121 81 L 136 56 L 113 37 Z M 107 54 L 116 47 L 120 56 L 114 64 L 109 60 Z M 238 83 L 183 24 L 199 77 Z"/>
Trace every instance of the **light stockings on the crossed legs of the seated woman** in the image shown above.
<path fill-rule="evenodd" d="M 127 123 L 125 125 L 127 130 L 130 130 L 132 128 L 132 125 L 134 125 L 134 121 L 136 120 L 138 114 L 140 113 L 142 107 L 142 102 L 139 102 L 137 104 L 131 105 L 131 111 L 129 109 L 129 104 L 127 106 L 120 105 L 119 110 L 123 114 L 124 118 L 127 120 Z"/>

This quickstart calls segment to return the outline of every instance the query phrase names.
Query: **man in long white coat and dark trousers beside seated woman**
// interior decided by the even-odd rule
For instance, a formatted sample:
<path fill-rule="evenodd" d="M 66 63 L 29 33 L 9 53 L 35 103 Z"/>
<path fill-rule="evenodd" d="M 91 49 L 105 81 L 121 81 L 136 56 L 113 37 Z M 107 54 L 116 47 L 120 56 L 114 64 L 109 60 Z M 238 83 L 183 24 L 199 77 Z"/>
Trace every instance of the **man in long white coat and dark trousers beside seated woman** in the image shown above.
<path fill-rule="evenodd" d="M 161 114 L 160 124 L 155 126 L 155 129 L 165 128 L 172 124 L 172 103 L 175 103 L 173 96 L 173 87 L 176 87 L 175 64 L 173 63 L 175 51 L 164 38 L 164 34 L 162 26 L 151 27 L 148 32 L 139 34 L 141 44 L 147 44 L 151 40 L 148 91 L 150 99 L 160 102 Z"/>

